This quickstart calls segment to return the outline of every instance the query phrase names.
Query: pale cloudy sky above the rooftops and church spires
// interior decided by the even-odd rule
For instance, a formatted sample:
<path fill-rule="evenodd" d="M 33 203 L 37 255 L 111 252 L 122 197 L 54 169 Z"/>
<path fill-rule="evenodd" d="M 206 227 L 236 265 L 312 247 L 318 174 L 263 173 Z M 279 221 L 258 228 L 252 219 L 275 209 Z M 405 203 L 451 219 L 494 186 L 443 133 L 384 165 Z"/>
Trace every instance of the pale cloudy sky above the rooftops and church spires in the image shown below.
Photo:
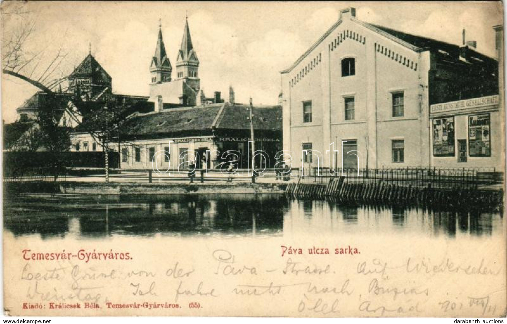
<path fill-rule="evenodd" d="M 222 91 L 227 97 L 232 85 L 236 101 L 247 102 L 251 96 L 259 104 L 277 102 L 279 71 L 338 20 L 340 9 L 354 7 L 360 20 L 458 45 L 465 28 L 466 39 L 477 41 L 478 51 L 493 57 L 491 27 L 503 18 L 499 2 L 29 2 L 26 6 L 36 22 L 26 47 L 32 52 L 44 49 L 40 66 L 63 48 L 67 55 L 59 68 L 68 75 L 88 54 L 91 43 L 92 54 L 113 78 L 114 92 L 132 95 L 149 94 L 159 18 L 175 70 L 188 14 L 205 94 Z M 19 19 L 3 23 L 5 39 Z M 35 91 L 23 81 L 3 76 L 3 119 L 14 121 L 16 107 Z"/>

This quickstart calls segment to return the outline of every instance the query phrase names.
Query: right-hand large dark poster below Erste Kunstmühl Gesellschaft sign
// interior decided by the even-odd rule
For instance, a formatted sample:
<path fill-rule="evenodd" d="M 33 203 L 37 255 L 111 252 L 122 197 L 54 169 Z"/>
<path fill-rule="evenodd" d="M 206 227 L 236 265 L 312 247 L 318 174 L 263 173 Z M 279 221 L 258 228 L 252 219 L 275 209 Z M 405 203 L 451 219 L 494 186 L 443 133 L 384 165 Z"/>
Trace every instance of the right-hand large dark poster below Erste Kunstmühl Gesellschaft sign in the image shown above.
<path fill-rule="evenodd" d="M 468 152 L 470 156 L 491 156 L 489 114 L 468 116 Z"/>

